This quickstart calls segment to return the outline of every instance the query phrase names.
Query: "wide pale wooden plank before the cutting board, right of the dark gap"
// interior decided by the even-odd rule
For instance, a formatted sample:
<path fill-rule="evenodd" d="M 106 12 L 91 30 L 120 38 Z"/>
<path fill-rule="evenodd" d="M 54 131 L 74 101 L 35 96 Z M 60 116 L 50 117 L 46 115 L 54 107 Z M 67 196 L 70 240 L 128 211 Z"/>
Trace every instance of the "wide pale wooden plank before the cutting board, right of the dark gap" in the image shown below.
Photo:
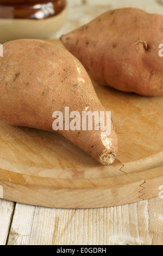
<path fill-rule="evenodd" d="M 101 209 L 17 204 L 8 245 L 161 245 L 162 199 Z"/>

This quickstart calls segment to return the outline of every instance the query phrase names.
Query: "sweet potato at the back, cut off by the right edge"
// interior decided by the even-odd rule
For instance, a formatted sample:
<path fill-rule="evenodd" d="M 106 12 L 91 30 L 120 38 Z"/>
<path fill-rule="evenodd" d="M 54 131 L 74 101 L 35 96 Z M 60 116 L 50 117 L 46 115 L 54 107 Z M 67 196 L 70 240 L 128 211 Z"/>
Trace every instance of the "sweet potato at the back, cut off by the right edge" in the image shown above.
<path fill-rule="evenodd" d="M 137 8 L 108 11 L 61 36 L 99 83 L 139 95 L 163 95 L 163 16 Z"/>

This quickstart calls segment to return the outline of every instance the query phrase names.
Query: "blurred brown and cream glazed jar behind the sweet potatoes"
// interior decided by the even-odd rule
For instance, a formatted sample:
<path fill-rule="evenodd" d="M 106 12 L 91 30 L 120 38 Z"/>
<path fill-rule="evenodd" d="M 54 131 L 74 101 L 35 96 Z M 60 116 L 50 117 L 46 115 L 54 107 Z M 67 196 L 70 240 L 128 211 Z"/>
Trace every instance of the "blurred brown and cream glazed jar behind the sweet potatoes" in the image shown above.
<path fill-rule="evenodd" d="M 0 0 L 0 44 L 52 38 L 67 19 L 66 0 Z"/>

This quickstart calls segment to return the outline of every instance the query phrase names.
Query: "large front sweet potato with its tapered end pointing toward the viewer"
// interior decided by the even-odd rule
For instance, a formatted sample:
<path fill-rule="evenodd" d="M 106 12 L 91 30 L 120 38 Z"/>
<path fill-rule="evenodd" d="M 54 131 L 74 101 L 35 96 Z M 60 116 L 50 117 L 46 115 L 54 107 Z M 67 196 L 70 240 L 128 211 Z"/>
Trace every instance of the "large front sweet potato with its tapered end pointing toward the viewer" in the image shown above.
<path fill-rule="evenodd" d="M 0 58 L 0 117 L 9 124 L 54 132 L 53 113 L 105 111 L 83 65 L 70 52 L 49 42 L 6 42 Z M 105 111 L 106 112 L 106 111 Z M 117 136 L 101 130 L 58 130 L 102 164 L 114 162 Z"/>

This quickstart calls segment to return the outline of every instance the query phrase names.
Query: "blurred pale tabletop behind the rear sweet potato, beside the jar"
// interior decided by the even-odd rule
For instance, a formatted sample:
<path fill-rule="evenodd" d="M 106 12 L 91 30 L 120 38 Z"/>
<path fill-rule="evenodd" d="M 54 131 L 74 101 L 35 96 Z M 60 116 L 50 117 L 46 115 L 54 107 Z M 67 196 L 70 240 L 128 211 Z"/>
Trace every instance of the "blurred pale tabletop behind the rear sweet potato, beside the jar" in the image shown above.
<path fill-rule="evenodd" d="M 67 0 L 67 2 L 69 5 L 67 23 L 57 36 L 68 33 L 111 9 L 133 7 L 163 15 L 163 0 Z"/>

